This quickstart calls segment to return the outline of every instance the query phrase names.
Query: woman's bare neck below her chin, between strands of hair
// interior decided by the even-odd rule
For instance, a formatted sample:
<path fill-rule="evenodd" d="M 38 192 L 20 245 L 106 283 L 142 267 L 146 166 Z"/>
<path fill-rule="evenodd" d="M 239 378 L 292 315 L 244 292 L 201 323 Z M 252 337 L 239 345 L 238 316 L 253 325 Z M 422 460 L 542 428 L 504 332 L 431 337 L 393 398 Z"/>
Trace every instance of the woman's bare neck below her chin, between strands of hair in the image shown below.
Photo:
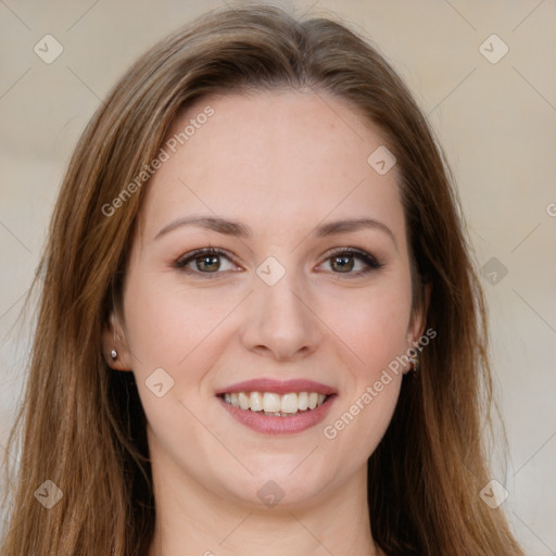
<path fill-rule="evenodd" d="M 165 464 L 152 462 L 156 523 L 149 556 L 381 554 L 370 534 L 366 467 L 326 498 L 261 508 L 218 496 L 184 473 L 176 481 Z"/>

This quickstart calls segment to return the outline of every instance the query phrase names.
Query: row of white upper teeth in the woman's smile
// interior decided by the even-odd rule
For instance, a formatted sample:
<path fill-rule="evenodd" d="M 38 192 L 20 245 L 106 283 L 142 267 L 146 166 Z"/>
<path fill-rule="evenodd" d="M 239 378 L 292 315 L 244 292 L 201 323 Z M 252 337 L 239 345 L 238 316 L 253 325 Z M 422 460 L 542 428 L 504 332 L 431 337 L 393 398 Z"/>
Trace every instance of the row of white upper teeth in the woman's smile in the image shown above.
<path fill-rule="evenodd" d="M 235 392 L 225 393 L 224 401 L 233 407 L 251 409 L 265 415 L 293 415 L 298 412 L 315 409 L 325 403 L 325 394 L 317 392 L 291 392 L 277 394 L 275 392 Z"/>

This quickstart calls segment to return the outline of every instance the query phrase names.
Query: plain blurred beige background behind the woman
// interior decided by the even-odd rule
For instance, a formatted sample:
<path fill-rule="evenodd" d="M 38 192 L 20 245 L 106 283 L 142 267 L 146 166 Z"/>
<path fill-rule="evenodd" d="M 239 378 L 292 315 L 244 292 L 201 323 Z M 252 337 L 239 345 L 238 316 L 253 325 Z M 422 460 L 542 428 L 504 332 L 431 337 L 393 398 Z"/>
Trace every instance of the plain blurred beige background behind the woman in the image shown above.
<path fill-rule="evenodd" d="M 331 11 L 367 37 L 409 85 L 446 151 L 477 264 L 486 265 L 492 363 L 509 440 L 507 470 L 493 478 L 509 492 L 503 507 L 528 554 L 554 555 L 556 2 L 281 4 L 299 15 Z M 218 5 L 0 0 L 0 447 L 31 336 L 18 315 L 76 140 L 140 53 Z M 49 34 L 63 52 L 47 64 L 34 47 Z M 481 53 L 493 59 L 504 45 L 496 63 Z"/>

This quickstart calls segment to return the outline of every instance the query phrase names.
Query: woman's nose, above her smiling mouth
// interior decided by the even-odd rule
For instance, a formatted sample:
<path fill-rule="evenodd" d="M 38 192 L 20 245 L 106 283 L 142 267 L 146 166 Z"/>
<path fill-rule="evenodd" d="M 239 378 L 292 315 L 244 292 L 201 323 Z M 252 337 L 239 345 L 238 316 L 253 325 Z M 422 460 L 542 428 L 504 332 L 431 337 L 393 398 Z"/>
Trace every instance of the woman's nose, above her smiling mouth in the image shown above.
<path fill-rule="evenodd" d="M 286 271 L 274 286 L 258 280 L 249 296 L 244 346 L 280 362 L 296 361 L 315 352 L 324 336 L 324 325 L 312 299 L 294 271 Z"/>

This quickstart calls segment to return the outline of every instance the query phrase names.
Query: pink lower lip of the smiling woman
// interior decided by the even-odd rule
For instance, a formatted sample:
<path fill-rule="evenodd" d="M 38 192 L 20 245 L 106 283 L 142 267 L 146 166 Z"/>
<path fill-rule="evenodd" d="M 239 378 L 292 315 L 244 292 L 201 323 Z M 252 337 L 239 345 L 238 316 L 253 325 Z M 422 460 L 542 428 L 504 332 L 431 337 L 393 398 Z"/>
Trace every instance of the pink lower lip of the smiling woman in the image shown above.
<path fill-rule="evenodd" d="M 295 434 L 318 425 L 326 417 L 326 414 L 338 396 L 330 395 L 316 409 L 296 413 L 291 415 L 291 417 L 277 417 L 274 415 L 263 415 L 250 409 L 241 409 L 228 404 L 220 396 L 217 397 L 233 418 L 256 432 L 264 434 Z"/>

